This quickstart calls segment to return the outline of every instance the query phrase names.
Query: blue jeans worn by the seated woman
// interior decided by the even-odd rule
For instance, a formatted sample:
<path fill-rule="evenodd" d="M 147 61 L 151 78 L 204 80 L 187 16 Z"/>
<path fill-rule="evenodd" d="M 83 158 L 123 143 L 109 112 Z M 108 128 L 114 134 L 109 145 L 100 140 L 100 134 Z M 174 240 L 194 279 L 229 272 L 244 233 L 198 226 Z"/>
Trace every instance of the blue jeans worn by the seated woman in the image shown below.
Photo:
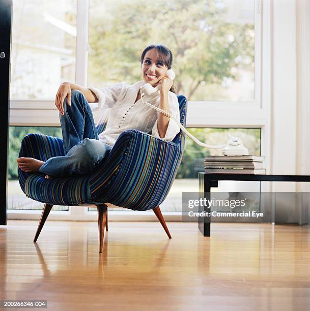
<path fill-rule="evenodd" d="M 57 177 L 91 173 L 112 146 L 99 141 L 92 110 L 80 91 L 72 90 L 71 106 L 65 98 L 60 122 L 66 155 L 48 159 L 39 172 Z"/>

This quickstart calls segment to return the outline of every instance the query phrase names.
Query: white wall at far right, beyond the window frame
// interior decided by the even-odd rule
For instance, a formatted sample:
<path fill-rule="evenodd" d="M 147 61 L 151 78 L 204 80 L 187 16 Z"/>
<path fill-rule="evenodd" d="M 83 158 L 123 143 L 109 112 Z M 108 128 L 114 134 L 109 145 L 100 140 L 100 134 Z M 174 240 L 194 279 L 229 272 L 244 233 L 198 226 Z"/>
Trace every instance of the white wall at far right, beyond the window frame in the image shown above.
<path fill-rule="evenodd" d="M 273 0 L 271 15 L 270 172 L 307 175 L 310 174 L 309 1 Z M 299 187 L 293 182 L 277 182 L 273 191 L 296 191 Z"/>

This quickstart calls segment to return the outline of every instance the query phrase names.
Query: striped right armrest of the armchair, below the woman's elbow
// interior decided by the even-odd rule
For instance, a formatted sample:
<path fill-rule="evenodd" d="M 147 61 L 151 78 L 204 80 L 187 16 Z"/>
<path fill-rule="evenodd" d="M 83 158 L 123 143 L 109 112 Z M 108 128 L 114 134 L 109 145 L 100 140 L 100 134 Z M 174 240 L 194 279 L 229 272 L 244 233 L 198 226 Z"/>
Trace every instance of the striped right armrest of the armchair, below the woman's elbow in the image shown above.
<path fill-rule="evenodd" d="M 90 178 L 92 198 L 141 210 L 151 197 L 156 197 L 156 204 L 170 190 L 181 155 L 176 143 L 133 129 L 124 131 Z"/>

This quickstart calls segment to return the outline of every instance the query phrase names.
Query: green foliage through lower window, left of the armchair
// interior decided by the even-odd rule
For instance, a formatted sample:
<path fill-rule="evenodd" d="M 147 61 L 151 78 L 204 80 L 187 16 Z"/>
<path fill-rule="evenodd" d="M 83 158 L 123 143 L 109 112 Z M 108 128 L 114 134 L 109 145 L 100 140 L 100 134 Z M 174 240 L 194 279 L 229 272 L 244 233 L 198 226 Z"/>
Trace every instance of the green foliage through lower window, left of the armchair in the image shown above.
<path fill-rule="evenodd" d="M 62 137 L 61 128 L 52 127 L 10 127 L 9 130 L 9 179 L 17 179 L 17 163 L 20 143 L 29 133 L 40 133 L 54 137 Z"/>

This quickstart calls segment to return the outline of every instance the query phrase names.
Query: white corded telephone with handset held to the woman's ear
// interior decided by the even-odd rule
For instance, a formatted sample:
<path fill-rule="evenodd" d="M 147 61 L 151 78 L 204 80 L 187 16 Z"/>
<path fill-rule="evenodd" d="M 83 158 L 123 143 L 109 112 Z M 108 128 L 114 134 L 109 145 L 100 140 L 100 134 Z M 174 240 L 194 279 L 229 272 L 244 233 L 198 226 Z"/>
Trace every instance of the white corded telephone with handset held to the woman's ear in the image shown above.
<path fill-rule="evenodd" d="M 174 71 L 172 69 L 169 69 L 167 71 L 167 75 L 174 80 L 176 74 L 174 73 Z M 229 141 L 227 144 L 222 144 L 222 145 L 208 145 L 205 144 L 201 141 L 199 141 L 196 137 L 194 137 L 192 134 L 190 134 L 183 126 L 180 122 L 178 122 L 177 120 L 175 120 L 175 118 L 172 116 L 172 114 L 170 112 L 167 112 L 159 107 L 156 107 L 152 104 L 150 104 L 149 102 L 144 102 L 143 97 L 145 96 L 145 92 L 148 95 L 153 94 L 154 92 L 159 91 L 158 86 L 153 87 L 150 83 L 146 83 L 142 86 L 141 88 L 141 100 L 144 104 L 146 104 L 147 106 L 153 108 L 156 111 L 161 112 L 162 114 L 166 115 L 167 117 L 171 118 L 172 120 L 174 120 L 177 125 L 180 127 L 180 129 L 188 136 L 190 137 L 196 144 L 205 147 L 205 148 L 210 148 L 210 149 L 221 149 L 222 148 L 222 152 L 224 155 L 248 155 L 248 149 L 245 148 L 242 144 L 241 139 L 239 138 L 239 136 L 231 136 L 229 135 Z"/>

